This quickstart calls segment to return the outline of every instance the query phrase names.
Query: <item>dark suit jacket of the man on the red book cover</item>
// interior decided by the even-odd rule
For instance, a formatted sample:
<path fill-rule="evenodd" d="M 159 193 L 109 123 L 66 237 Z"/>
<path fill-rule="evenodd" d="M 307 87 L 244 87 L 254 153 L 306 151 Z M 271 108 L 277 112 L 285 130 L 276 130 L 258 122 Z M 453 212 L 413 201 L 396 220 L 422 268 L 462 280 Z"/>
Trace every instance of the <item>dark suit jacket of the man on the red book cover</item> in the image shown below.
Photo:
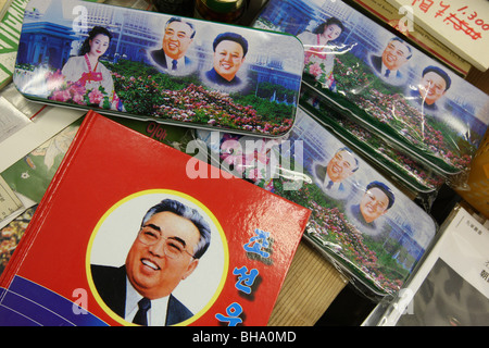
<path fill-rule="evenodd" d="M 126 304 L 126 268 L 112 268 L 105 265 L 91 265 L 91 275 L 105 304 L 117 315 L 124 318 Z M 166 325 L 174 325 L 193 316 L 180 301 L 170 295 L 166 312 Z"/>

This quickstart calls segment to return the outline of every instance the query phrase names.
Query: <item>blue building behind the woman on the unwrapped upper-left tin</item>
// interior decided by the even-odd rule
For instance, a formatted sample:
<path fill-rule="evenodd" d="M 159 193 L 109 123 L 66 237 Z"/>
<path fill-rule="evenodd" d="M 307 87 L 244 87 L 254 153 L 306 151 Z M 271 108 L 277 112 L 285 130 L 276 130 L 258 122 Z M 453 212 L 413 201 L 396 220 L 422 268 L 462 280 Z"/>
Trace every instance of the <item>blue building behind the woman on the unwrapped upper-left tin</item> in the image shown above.
<path fill-rule="evenodd" d="M 77 22 L 66 17 L 61 0 L 52 0 L 42 12 L 27 8 L 20 40 L 23 60 L 20 63 L 45 63 L 61 69 L 70 57 L 78 54 L 93 26 L 103 26 L 113 36 L 104 59 L 147 62 L 147 50 L 161 45 L 161 26 L 149 21 L 142 11 L 128 13 L 116 10 L 116 7 L 87 2 Z"/>

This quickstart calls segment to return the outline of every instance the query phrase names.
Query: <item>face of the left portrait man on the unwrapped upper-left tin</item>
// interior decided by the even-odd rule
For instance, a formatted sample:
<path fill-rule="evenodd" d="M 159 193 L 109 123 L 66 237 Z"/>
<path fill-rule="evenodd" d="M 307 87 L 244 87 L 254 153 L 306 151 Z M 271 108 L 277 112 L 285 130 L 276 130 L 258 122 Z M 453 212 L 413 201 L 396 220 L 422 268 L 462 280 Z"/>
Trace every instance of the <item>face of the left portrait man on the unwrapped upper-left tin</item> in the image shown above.
<path fill-rule="evenodd" d="M 170 23 L 163 36 L 163 50 L 172 59 L 180 59 L 192 42 L 193 29 L 184 22 Z"/>

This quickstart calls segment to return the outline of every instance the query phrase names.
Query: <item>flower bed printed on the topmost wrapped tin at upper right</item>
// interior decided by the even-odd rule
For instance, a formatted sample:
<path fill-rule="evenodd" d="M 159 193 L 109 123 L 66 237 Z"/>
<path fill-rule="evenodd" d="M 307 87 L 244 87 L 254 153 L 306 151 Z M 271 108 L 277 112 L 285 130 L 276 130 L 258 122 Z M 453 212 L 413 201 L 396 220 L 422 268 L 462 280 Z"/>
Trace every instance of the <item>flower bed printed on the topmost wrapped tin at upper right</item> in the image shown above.
<path fill-rule="evenodd" d="M 361 60 L 347 55 L 341 60 L 337 58 L 334 74 L 338 90 L 369 116 L 454 167 L 463 170 L 469 165 L 471 153 L 475 151 L 471 142 L 410 104 L 401 88 L 399 92 L 392 92 L 392 86 L 386 89 Z"/>

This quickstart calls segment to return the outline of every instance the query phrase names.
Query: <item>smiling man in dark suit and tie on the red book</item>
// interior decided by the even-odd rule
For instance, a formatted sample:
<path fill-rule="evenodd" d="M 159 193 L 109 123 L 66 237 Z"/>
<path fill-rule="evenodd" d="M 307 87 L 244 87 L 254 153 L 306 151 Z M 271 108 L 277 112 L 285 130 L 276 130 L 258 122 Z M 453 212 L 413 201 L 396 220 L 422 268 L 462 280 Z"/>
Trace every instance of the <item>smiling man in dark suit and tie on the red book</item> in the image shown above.
<path fill-rule="evenodd" d="M 192 274 L 210 243 L 210 225 L 196 209 L 164 199 L 142 217 L 124 265 L 91 265 L 93 284 L 127 322 L 178 324 L 193 313 L 172 293 Z"/>

